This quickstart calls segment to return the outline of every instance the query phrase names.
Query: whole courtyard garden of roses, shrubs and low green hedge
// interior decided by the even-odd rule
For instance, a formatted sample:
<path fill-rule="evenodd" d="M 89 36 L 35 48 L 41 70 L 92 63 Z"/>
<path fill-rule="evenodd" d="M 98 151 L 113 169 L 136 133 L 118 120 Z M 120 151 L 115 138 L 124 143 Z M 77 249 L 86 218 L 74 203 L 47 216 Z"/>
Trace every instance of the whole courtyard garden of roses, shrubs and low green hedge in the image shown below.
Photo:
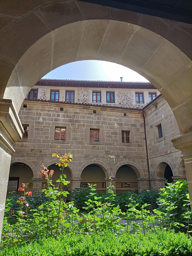
<path fill-rule="evenodd" d="M 74 202 L 65 203 L 69 183 L 64 168 L 70 153 L 57 157 L 60 189 L 52 184 L 53 170 L 42 165 L 47 188 L 41 192 L 10 193 L 6 199 L 0 256 L 171 256 L 192 255 L 192 217 L 185 180 L 156 190 L 115 195 L 96 185 L 76 188 Z M 111 177 L 109 177 L 111 179 Z"/>

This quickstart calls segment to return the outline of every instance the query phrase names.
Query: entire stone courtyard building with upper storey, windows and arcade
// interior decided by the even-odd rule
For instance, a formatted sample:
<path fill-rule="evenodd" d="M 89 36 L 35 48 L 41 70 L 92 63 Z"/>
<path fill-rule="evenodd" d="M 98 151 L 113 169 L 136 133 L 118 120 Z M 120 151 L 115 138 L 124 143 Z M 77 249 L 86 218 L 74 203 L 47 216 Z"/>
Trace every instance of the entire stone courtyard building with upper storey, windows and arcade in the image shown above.
<path fill-rule="evenodd" d="M 14 144 L 10 181 L 17 177 L 18 186 L 24 182 L 28 189 L 44 188 L 46 181 L 39 173 L 44 163 L 55 171 L 55 182 L 60 170 L 55 166 L 52 153 L 58 144 L 61 154 L 68 152 L 69 145 L 72 147 L 73 162 L 65 168 L 67 180 L 71 181 L 69 191 L 95 183 L 97 189 L 104 192 L 109 176 L 113 177 L 116 193 L 159 189 L 167 178 L 185 178 L 181 152 L 171 143 L 171 139 L 179 135 L 178 126 L 163 96 L 150 83 L 115 83 L 93 85 L 84 81 L 40 80 L 32 88 L 33 99 L 29 93 L 29 99 L 24 100 L 20 108 L 21 124 L 24 130 L 27 127 L 28 134 Z M 112 88 L 114 86 L 120 88 Z M 107 104 L 109 88 L 115 98 Z M 59 91 L 58 96 L 55 91 Z M 74 102 L 62 100 L 66 100 L 67 92 L 74 92 L 70 95 Z M 93 92 L 100 92 L 101 102 L 92 102 Z M 142 93 L 142 104 L 136 104 L 136 93 Z M 146 105 L 152 93 L 158 96 Z M 56 100 L 51 100 L 52 95 Z M 159 124 L 161 138 L 156 130 Z M 60 129 L 65 138 L 60 135 L 58 140 L 55 134 Z M 95 140 L 91 138 L 93 131 L 98 132 Z"/>

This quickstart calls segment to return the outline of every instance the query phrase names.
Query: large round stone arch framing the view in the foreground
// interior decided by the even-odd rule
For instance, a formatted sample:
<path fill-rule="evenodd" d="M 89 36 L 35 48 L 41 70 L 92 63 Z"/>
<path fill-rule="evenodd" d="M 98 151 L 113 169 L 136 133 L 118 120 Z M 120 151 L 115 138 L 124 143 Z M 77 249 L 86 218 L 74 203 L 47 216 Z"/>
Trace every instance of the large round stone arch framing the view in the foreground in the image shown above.
<path fill-rule="evenodd" d="M 77 60 L 105 60 L 148 79 L 172 108 L 180 134 L 190 132 L 191 36 L 185 23 L 74 0 L 22 7 L 12 10 L 14 22 L 3 28 L 0 43 L 0 98 L 12 99 L 18 112 L 32 86 L 51 70 Z"/>

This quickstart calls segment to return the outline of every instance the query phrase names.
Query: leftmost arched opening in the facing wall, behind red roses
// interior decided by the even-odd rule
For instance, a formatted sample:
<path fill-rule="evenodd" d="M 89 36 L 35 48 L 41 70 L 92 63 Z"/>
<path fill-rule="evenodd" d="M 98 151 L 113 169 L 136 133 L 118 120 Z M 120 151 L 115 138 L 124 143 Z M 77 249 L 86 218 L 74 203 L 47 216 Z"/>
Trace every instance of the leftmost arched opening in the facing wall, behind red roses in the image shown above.
<path fill-rule="evenodd" d="M 25 183 L 25 189 L 27 191 L 33 188 L 33 171 L 27 164 L 20 162 L 12 163 L 7 190 L 18 191 L 22 183 Z"/>

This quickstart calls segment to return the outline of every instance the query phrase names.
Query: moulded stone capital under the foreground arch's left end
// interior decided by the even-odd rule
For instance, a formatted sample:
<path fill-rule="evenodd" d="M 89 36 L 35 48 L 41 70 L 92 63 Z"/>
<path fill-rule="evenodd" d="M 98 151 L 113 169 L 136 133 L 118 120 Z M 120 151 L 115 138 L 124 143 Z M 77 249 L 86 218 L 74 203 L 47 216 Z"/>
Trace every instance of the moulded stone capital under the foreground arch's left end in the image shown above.
<path fill-rule="evenodd" d="M 23 127 L 12 100 L 0 99 L 0 131 L 2 148 L 14 153 L 12 144 L 22 138 Z"/>

